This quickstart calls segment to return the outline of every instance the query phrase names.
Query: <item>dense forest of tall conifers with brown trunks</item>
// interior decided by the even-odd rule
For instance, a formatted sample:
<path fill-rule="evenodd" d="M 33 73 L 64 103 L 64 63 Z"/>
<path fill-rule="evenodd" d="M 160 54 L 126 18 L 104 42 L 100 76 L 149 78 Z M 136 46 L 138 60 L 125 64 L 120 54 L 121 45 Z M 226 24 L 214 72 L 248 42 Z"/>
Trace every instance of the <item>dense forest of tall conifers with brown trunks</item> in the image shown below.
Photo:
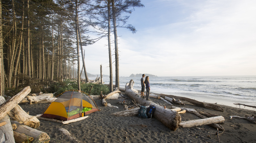
<path fill-rule="evenodd" d="M 135 7 L 144 7 L 140 0 L 0 0 L 0 5 L 1 96 L 69 79 L 79 79 L 81 90 L 81 72 L 88 82 L 83 48 L 101 38 L 108 40 L 109 90 L 112 64 L 119 87 L 117 29 L 136 32 L 127 22 Z"/>

